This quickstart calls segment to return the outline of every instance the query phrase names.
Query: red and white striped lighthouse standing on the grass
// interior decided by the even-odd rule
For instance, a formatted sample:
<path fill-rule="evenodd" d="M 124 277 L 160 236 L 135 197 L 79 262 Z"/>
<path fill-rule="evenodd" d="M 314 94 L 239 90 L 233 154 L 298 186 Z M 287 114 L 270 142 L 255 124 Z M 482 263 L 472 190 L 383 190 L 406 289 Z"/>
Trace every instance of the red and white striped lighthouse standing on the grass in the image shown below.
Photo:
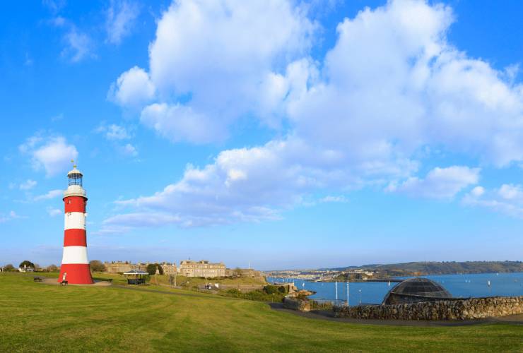
<path fill-rule="evenodd" d="M 71 285 L 91 285 L 87 259 L 86 191 L 82 186 L 83 174 L 73 166 L 67 173 L 69 186 L 64 191 L 64 256 L 61 258 L 58 282 L 66 280 Z"/>

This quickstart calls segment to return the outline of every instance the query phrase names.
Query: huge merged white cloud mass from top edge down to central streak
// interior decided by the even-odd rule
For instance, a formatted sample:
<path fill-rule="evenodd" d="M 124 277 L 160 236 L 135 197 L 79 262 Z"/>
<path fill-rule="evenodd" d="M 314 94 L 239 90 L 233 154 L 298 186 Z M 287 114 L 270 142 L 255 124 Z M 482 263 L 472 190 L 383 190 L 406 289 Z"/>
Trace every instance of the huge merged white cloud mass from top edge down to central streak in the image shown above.
<path fill-rule="evenodd" d="M 158 21 L 148 72 L 134 71 L 156 90 L 141 122 L 173 142 L 223 139 L 247 113 L 269 126 L 284 121 L 283 137 L 187 169 L 163 191 L 127 201 L 134 214 L 161 211 L 191 225 L 264 220 L 307 193 L 370 184 L 453 198 L 479 169 L 413 177 L 420 151 L 486 167 L 523 160 L 523 85 L 447 41 L 449 6 L 365 8 L 339 23 L 336 44 L 314 61 L 315 23 L 290 2 L 266 4 L 173 3 Z"/>

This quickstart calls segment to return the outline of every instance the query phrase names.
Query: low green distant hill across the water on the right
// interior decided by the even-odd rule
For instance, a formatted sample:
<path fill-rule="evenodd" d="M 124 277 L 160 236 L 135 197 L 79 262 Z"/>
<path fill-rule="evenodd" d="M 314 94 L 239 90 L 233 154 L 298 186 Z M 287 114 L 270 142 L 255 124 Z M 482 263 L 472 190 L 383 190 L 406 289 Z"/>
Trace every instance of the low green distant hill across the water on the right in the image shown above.
<path fill-rule="evenodd" d="M 444 262 L 411 262 L 390 265 L 348 266 L 331 270 L 374 270 L 381 275 L 448 275 L 452 273 L 508 273 L 523 272 L 523 261 L 444 261 Z"/>

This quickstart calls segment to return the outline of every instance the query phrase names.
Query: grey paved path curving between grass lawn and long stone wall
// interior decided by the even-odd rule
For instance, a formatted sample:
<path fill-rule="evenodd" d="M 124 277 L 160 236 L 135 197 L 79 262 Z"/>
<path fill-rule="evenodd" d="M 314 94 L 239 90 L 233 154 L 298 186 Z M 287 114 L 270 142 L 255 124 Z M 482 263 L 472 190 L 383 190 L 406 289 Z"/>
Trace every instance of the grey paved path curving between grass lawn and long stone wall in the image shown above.
<path fill-rule="evenodd" d="M 430 326 L 464 326 L 464 325 L 478 325 L 484 323 L 512 323 L 516 325 L 523 325 L 523 314 L 503 316 L 499 318 L 485 318 L 480 320 L 467 321 L 418 321 L 418 320 L 375 320 L 375 319 L 361 319 L 361 318 L 335 318 L 332 311 L 295 311 L 283 308 L 281 303 L 270 303 L 269 306 L 273 310 L 282 311 L 285 313 L 292 313 L 294 315 L 302 316 L 304 318 L 312 318 L 317 320 L 338 321 L 341 323 L 358 323 L 361 325 L 391 325 L 391 326 L 416 326 L 416 327 L 430 327 Z"/>

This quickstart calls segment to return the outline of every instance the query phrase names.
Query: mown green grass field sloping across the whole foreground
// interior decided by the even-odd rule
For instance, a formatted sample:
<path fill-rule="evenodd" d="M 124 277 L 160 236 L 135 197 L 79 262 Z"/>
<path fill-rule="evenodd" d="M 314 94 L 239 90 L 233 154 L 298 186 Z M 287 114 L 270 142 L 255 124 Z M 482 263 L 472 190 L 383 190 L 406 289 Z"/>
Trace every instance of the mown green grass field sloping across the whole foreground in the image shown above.
<path fill-rule="evenodd" d="M 0 352 L 523 352 L 521 325 L 355 325 L 151 288 L 60 287 L 0 273 Z"/>

